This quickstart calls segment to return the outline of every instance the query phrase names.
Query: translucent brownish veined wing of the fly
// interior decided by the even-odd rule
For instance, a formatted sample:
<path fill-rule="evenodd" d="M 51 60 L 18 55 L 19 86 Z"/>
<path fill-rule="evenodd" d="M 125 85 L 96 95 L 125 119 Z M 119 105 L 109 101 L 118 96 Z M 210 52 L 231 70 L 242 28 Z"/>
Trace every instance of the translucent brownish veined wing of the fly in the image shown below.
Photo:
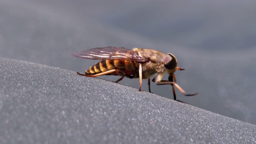
<path fill-rule="evenodd" d="M 134 60 L 138 62 L 145 62 L 147 58 L 142 58 L 132 50 L 123 47 L 105 47 L 92 48 L 90 50 L 83 50 L 71 54 L 78 58 L 86 58 L 93 60 Z"/>

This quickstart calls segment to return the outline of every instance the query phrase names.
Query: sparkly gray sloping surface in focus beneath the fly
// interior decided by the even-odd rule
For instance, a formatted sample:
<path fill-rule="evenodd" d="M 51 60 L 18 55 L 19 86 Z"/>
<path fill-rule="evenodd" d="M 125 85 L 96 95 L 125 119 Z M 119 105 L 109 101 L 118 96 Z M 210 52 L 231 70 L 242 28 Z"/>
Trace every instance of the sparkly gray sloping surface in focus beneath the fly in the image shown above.
<path fill-rule="evenodd" d="M 256 126 L 73 71 L 0 58 L 0 143 L 252 143 Z"/>

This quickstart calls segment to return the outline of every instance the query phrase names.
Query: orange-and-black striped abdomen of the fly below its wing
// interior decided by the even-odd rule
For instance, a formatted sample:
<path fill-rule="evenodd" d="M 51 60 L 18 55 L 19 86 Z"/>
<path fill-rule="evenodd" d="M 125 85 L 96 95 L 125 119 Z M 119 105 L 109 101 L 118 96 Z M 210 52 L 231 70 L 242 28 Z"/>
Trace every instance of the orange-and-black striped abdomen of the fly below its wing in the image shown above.
<path fill-rule="evenodd" d="M 112 69 L 126 69 L 126 70 L 134 70 L 135 63 L 134 61 L 129 60 L 102 60 L 94 66 L 91 66 L 87 70 L 85 70 L 85 74 L 98 74 L 101 72 L 106 72 Z M 116 75 L 116 74 L 114 74 Z"/>

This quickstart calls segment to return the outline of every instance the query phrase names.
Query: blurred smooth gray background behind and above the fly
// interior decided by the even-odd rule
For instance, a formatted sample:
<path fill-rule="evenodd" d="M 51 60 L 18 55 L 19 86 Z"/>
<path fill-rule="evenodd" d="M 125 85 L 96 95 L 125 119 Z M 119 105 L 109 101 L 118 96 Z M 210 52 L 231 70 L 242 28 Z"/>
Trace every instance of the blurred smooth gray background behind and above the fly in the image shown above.
<path fill-rule="evenodd" d="M 0 57 L 84 72 L 76 51 L 117 46 L 171 52 L 192 106 L 256 124 L 256 1 L 0 0 Z M 82 78 L 82 77 L 81 77 Z M 117 80 L 118 76 L 101 76 Z M 168 79 L 165 75 L 164 80 Z M 121 84 L 139 87 L 138 79 Z M 148 91 L 147 80 L 142 90 Z M 173 98 L 171 86 L 151 85 Z"/>

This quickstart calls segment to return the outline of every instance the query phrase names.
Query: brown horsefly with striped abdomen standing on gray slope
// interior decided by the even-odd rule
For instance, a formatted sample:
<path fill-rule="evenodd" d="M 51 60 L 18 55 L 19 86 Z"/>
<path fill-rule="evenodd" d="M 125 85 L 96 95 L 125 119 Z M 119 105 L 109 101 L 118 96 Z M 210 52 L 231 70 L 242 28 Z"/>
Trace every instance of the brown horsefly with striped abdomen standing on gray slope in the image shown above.
<path fill-rule="evenodd" d="M 156 74 L 152 80 L 157 85 L 170 84 L 176 100 L 174 86 L 185 96 L 194 96 L 195 94 L 186 94 L 186 92 L 176 84 L 174 72 L 176 70 L 184 70 L 178 67 L 176 57 L 171 54 L 164 54 L 158 50 L 133 48 L 132 50 L 123 47 L 105 47 L 92 48 L 75 52 L 72 56 L 85 59 L 101 60 L 94 66 L 85 70 L 85 74 L 76 72 L 81 76 L 96 77 L 102 75 L 118 75 L 121 76 L 116 82 L 124 77 L 139 78 L 141 91 L 142 79 L 148 79 L 148 89 L 150 90 L 150 77 Z M 162 80 L 164 73 L 169 75 L 169 80 Z M 179 100 L 178 100 L 179 101 Z M 180 101 L 181 102 L 181 101 Z"/>

